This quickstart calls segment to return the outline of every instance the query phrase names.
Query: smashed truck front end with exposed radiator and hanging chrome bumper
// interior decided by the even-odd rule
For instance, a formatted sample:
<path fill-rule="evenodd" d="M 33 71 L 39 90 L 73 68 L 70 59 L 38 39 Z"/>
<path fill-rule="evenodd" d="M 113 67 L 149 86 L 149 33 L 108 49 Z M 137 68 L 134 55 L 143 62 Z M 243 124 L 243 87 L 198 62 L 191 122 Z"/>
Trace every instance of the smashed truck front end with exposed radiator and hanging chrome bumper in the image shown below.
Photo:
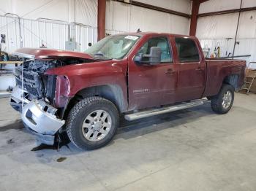
<path fill-rule="evenodd" d="M 56 76 L 44 74 L 59 64 L 58 61 L 32 60 L 15 68 L 16 87 L 10 96 L 10 105 L 21 112 L 26 129 L 42 144 L 53 145 L 56 133 L 65 123 L 53 107 Z"/>

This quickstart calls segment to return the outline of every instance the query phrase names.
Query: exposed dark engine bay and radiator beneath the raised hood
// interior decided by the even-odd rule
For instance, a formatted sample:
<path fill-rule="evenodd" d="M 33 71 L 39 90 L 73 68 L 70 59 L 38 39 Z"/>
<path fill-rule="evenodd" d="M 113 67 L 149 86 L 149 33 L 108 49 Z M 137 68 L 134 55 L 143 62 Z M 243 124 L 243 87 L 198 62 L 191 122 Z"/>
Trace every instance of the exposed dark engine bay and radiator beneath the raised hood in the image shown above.
<path fill-rule="evenodd" d="M 15 68 L 16 85 L 28 92 L 26 98 L 30 101 L 44 99 L 52 104 L 55 96 L 56 76 L 45 75 L 45 71 L 70 64 L 89 62 L 93 61 L 82 58 L 24 61 L 23 64 Z"/>

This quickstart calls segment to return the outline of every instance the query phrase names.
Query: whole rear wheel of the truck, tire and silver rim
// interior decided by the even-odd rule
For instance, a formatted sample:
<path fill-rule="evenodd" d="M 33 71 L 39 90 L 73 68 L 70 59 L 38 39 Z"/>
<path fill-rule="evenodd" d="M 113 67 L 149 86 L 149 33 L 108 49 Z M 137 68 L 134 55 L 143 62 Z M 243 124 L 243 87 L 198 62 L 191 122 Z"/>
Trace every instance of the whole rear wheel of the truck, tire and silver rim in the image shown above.
<path fill-rule="evenodd" d="M 233 86 L 223 84 L 218 95 L 211 98 L 211 109 L 217 114 L 226 114 L 233 105 L 234 92 Z"/>

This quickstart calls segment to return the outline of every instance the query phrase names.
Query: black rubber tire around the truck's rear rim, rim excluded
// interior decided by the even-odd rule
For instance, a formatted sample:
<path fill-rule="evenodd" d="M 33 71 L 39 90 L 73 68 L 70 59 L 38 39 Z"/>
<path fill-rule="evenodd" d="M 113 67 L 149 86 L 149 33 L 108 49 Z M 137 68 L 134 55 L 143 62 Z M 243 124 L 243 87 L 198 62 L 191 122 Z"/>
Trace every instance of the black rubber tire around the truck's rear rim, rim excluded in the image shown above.
<path fill-rule="evenodd" d="M 232 99 L 230 105 L 227 108 L 225 108 L 224 106 L 222 106 L 222 101 L 223 96 L 225 93 L 227 93 L 227 91 L 230 91 Z M 229 112 L 233 105 L 235 97 L 234 92 L 235 89 L 232 85 L 223 84 L 221 89 L 219 90 L 219 93 L 211 98 L 211 109 L 217 114 L 226 114 L 227 112 Z"/>

